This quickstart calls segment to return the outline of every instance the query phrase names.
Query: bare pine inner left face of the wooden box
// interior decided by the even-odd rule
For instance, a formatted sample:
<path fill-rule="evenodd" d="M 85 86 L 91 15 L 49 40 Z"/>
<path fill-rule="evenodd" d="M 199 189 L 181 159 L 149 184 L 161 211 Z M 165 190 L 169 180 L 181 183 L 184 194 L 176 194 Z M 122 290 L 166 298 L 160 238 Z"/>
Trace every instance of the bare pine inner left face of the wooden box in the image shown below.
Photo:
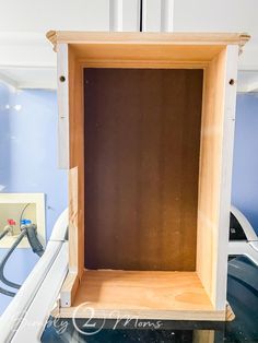
<path fill-rule="evenodd" d="M 69 134 L 70 134 L 70 223 L 69 269 L 79 277 L 83 273 L 84 261 L 84 114 L 83 114 L 82 67 L 69 48 Z M 75 173 L 77 170 L 77 173 Z M 72 187 L 75 185 L 77 190 Z M 74 199 L 77 192 L 77 199 Z M 77 201 L 77 204 L 74 204 Z M 72 209 L 77 209 L 75 213 Z M 77 217 L 74 217 L 74 215 Z"/>

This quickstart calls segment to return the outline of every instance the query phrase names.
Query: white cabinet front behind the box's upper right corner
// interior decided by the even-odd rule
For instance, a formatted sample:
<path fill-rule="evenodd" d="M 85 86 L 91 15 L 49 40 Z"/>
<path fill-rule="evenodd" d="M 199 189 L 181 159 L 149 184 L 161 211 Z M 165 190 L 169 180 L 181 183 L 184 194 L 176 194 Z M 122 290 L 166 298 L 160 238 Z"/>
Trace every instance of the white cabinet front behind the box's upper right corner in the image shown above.
<path fill-rule="evenodd" d="M 239 59 L 241 70 L 258 70 L 257 0 L 175 0 L 174 31 L 245 32 L 251 40 Z"/>

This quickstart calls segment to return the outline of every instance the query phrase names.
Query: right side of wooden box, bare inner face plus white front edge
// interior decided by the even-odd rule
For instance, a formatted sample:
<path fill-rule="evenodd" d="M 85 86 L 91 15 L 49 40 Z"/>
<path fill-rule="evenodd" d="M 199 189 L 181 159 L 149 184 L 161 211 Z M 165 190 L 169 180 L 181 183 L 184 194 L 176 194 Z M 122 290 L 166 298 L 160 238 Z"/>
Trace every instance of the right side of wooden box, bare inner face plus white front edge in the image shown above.
<path fill-rule="evenodd" d="M 236 46 L 226 47 L 204 72 L 201 123 L 197 272 L 215 309 L 225 309 L 227 240 L 234 139 Z"/>

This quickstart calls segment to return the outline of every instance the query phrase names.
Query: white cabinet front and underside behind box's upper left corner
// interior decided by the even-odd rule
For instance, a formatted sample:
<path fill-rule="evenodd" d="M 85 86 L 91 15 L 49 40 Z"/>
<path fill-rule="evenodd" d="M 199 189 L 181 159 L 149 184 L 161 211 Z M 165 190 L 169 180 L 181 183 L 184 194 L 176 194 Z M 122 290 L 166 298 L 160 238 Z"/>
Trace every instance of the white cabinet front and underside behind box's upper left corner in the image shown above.
<path fill-rule="evenodd" d="M 108 0 L 0 2 L 0 79 L 17 87 L 56 87 L 49 29 L 107 31 Z"/>

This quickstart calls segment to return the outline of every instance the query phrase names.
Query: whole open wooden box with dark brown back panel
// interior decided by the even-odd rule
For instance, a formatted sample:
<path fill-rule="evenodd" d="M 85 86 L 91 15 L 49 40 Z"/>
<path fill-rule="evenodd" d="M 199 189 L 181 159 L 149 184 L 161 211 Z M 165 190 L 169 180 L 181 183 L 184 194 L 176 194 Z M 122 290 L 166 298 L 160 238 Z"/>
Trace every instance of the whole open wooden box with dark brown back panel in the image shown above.
<path fill-rule="evenodd" d="M 59 315 L 87 303 L 96 318 L 225 320 L 237 58 L 249 37 L 48 38 L 70 169 Z"/>

